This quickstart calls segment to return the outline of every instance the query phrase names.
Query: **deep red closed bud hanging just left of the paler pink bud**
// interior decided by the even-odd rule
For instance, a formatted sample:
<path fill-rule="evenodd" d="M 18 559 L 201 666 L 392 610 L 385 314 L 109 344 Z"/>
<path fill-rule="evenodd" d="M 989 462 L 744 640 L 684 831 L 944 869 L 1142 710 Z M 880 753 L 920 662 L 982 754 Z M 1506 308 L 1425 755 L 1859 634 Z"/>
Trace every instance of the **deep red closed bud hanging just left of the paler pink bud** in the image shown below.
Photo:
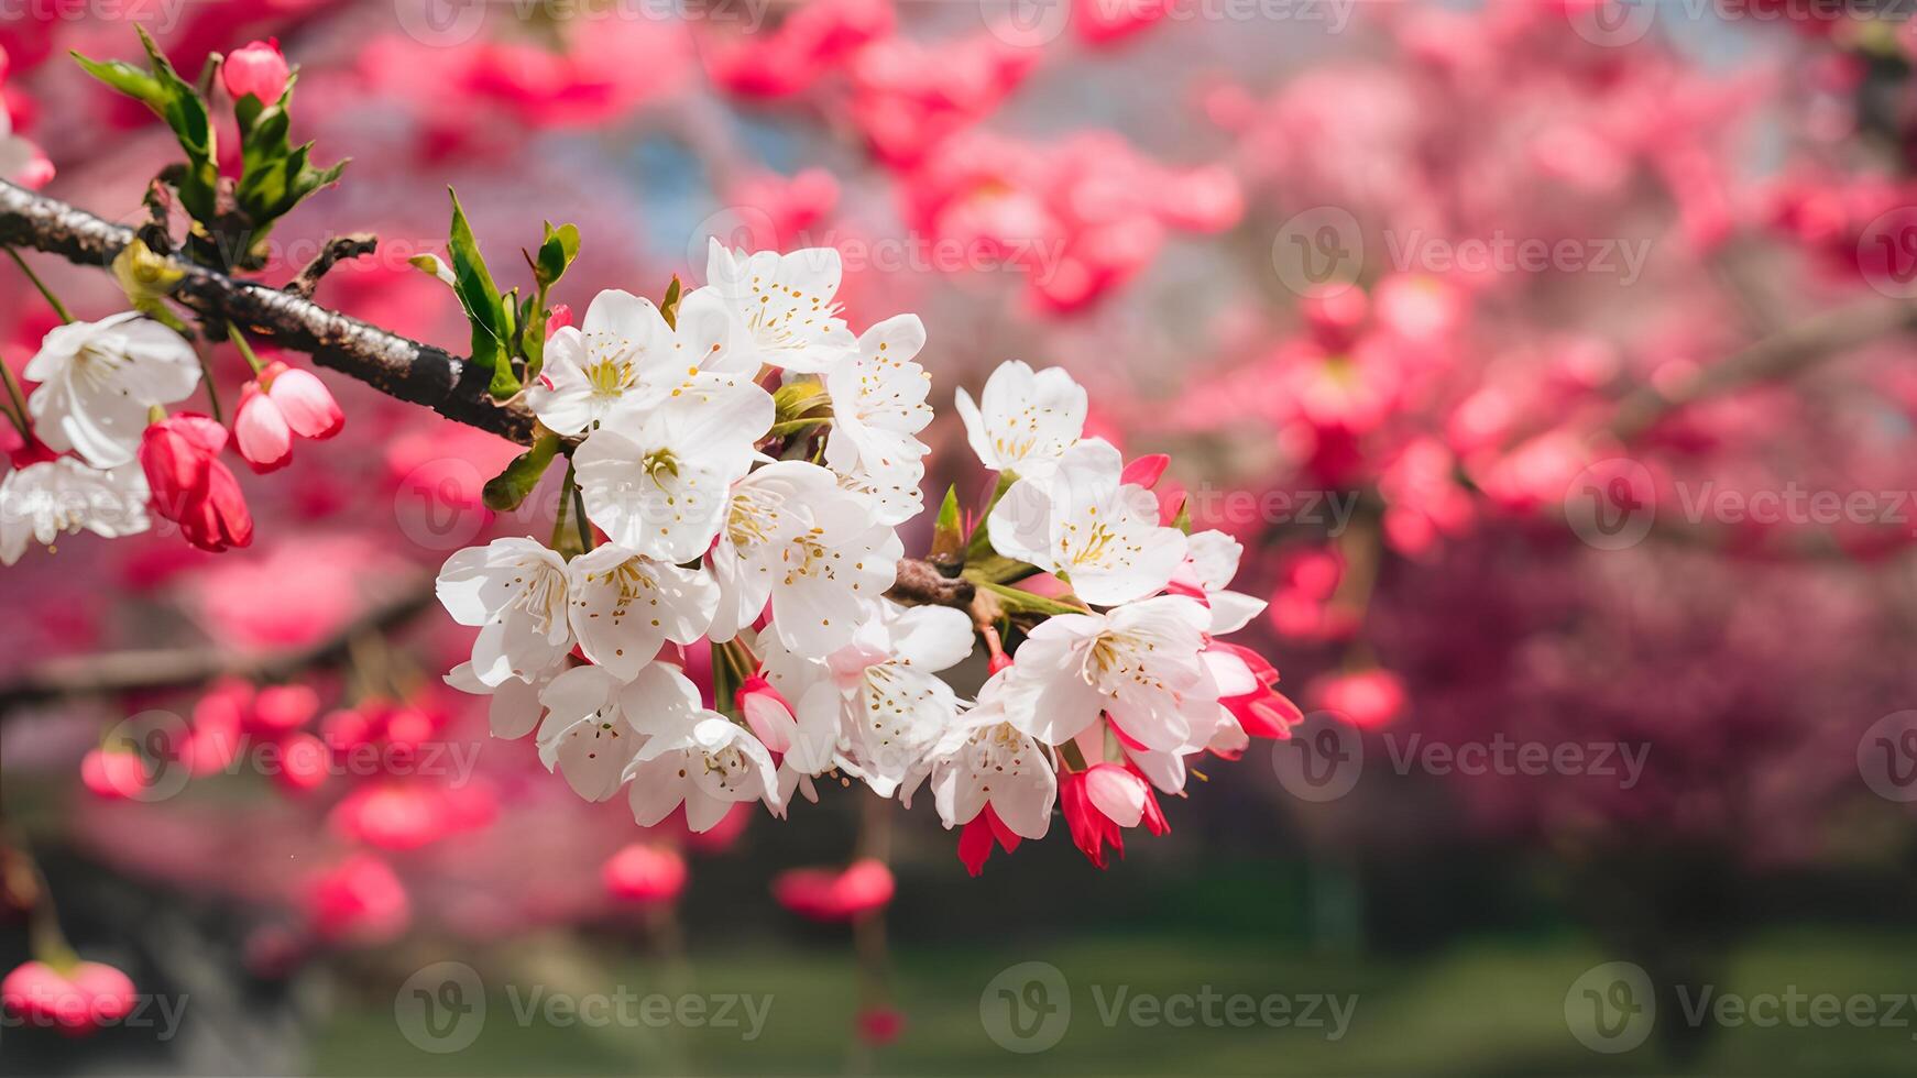
<path fill-rule="evenodd" d="M 161 419 L 140 437 L 140 469 L 153 490 L 153 513 L 213 553 L 253 542 L 240 481 L 219 460 L 224 446 L 226 427 L 190 412 Z"/>

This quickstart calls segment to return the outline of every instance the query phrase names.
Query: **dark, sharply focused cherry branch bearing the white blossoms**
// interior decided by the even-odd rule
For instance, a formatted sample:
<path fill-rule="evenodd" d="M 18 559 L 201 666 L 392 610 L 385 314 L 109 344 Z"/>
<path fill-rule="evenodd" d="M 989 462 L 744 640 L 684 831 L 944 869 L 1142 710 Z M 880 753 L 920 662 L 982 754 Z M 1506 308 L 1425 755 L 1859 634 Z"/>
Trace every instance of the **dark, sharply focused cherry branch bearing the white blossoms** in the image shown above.
<path fill-rule="evenodd" d="M 105 270 L 132 241 L 132 228 L 0 180 L 0 245 L 33 247 L 81 266 Z M 368 255 L 376 243 L 370 236 L 330 241 L 320 258 L 286 289 L 169 258 L 169 266 L 182 274 L 173 299 L 209 322 L 238 326 L 242 331 L 270 339 L 280 348 L 305 352 L 312 362 L 387 396 L 424 404 L 447 419 L 531 444 L 533 412 L 521 398 L 495 402 L 487 393 L 489 373 L 468 364 L 464 356 L 380 329 L 309 299 L 318 278 L 334 262 Z M 224 337 L 224 329 L 219 337 Z M 966 580 L 943 576 L 926 561 L 901 559 L 889 597 L 905 605 L 964 609 L 974 599 L 974 588 Z M 4 703 L 0 697 L 0 705 Z"/>

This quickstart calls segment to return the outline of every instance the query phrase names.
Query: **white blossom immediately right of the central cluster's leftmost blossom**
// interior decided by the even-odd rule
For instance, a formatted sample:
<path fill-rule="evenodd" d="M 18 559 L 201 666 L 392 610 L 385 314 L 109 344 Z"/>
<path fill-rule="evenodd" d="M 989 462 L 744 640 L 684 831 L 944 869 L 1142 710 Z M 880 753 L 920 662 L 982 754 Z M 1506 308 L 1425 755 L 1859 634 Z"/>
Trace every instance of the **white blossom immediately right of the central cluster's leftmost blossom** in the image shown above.
<path fill-rule="evenodd" d="M 566 565 L 573 636 L 587 659 L 631 680 L 659 645 L 692 643 L 713 620 L 719 586 L 704 569 L 602 544 Z"/>

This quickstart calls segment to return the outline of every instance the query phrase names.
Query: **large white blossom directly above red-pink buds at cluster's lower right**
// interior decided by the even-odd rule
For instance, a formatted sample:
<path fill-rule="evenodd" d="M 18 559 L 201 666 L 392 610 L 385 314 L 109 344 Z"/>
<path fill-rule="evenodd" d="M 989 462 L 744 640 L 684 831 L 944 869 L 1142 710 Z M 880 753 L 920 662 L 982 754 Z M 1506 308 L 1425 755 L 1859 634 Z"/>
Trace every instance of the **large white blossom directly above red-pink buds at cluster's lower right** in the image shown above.
<path fill-rule="evenodd" d="M 1210 622 L 1210 611 L 1185 595 L 1051 617 L 1031 630 L 1005 674 L 999 699 L 1006 722 L 1060 745 L 1106 712 L 1146 749 L 1189 751 L 1192 730 L 1212 730 L 1219 710 L 1217 685 L 1200 659 Z"/>

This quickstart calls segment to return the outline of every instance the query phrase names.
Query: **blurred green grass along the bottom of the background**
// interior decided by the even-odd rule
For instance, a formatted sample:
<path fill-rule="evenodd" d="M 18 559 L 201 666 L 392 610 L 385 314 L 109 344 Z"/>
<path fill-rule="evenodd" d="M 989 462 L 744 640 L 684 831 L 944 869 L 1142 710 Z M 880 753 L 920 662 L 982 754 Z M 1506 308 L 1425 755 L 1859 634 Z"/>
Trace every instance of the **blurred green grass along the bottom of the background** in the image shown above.
<path fill-rule="evenodd" d="M 583 957 L 569 967 L 548 948 Z M 1583 971 L 1616 955 L 1576 938 L 1480 936 L 1417 957 L 1304 954 L 1296 944 L 1219 938 L 1215 932 L 1152 934 L 1141 929 L 1072 936 L 1056 944 L 978 938 L 968 944 L 899 946 L 893 992 L 907 1015 L 905 1034 L 865 1051 L 851 1038 L 857 971 L 849 946 L 734 946 L 698 950 L 690 971 L 702 994 L 771 994 L 763 1034 L 690 1028 L 521 1024 L 508 984 L 550 992 L 636 994 L 673 990 L 671 978 L 636 955 L 581 950 L 577 940 L 514 944 L 514 954 L 477 961 L 489 986 L 489 1021 L 470 1047 L 429 1055 L 408 1044 L 391 998 L 343 994 L 335 1021 L 314 1045 L 318 1074 L 1909 1074 L 1917 1040 L 1886 1026 L 1720 1026 L 1697 1051 L 1670 1055 L 1660 1036 L 1641 1047 L 1601 1055 L 1578 1044 L 1564 1019 L 1564 996 Z M 1881 929 L 1790 929 L 1750 938 L 1727 955 L 1712 982 L 1721 994 L 1879 996 L 1917 990 L 1917 932 Z M 1070 982 L 1072 1021 L 1049 1051 L 1018 1055 L 999 1047 L 980 1017 L 991 978 L 1016 963 L 1047 961 Z M 500 973 L 516 969 L 518 973 Z M 531 975 L 569 969 L 558 977 Z M 581 971 L 585 975 L 581 977 Z M 1350 1030 L 1173 1028 L 1106 1024 L 1120 986 L 1133 996 L 1355 994 Z M 1681 1022 L 1660 1005 L 1662 1034 Z"/>

